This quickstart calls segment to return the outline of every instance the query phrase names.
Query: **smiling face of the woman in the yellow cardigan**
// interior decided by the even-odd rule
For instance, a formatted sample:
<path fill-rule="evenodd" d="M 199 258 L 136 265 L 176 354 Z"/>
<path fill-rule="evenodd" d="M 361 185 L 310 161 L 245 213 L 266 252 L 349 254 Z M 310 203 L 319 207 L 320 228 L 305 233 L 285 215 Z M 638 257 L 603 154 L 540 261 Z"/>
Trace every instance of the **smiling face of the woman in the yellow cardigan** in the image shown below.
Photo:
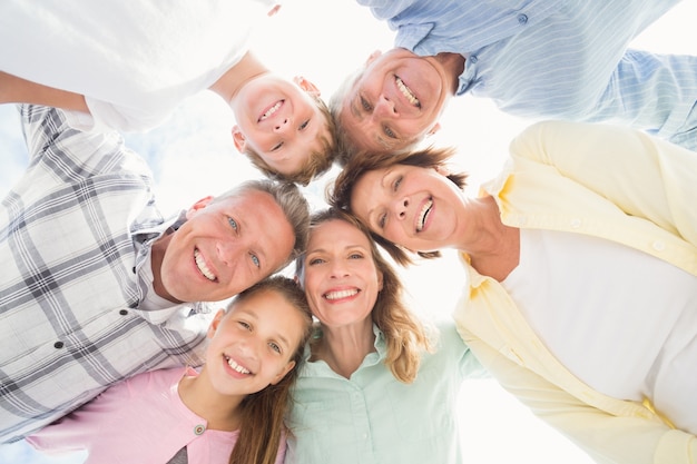
<path fill-rule="evenodd" d="M 351 195 L 351 209 L 371 230 L 413 251 L 457 246 L 462 205 L 445 175 L 406 165 L 369 171 Z"/>

